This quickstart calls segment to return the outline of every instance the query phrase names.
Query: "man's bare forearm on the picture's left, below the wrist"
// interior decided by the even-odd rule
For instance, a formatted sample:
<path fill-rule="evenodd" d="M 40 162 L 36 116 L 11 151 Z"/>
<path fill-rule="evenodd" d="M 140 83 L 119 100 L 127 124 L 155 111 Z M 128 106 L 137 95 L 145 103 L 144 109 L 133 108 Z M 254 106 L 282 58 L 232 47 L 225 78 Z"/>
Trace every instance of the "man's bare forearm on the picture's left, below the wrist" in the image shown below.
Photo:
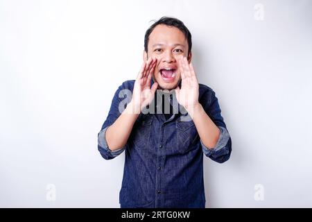
<path fill-rule="evenodd" d="M 131 102 L 128 103 L 119 118 L 107 128 L 105 139 L 107 146 L 111 151 L 116 151 L 127 143 L 133 125 L 135 124 L 137 117 L 139 117 L 139 114 L 133 112 L 133 110 L 133 104 Z"/>

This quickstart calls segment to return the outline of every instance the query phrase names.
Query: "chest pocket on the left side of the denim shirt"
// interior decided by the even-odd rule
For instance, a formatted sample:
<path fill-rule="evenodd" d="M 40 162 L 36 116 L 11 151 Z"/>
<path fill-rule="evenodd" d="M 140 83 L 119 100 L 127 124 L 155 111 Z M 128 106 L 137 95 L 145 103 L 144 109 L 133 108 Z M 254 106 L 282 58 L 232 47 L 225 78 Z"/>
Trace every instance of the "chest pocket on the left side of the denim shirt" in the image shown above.
<path fill-rule="evenodd" d="M 135 122 L 131 132 L 131 142 L 136 148 L 146 148 L 150 142 L 150 130 L 153 123 L 152 115 L 141 115 Z"/>

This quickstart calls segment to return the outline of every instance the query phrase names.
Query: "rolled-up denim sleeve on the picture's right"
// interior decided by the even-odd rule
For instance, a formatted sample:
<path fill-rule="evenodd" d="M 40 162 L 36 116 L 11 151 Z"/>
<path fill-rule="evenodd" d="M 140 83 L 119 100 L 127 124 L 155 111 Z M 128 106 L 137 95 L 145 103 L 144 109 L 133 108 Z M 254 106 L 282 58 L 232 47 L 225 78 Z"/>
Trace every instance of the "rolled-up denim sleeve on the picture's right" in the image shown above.
<path fill-rule="evenodd" d="M 223 117 L 221 116 L 221 109 L 218 104 L 218 99 L 216 98 L 216 94 L 212 89 L 209 88 L 205 96 L 202 96 L 201 103 L 205 112 L 220 129 L 218 142 L 214 148 L 207 148 L 200 140 L 202 151 L 211 160 L 223 163 L 229 160 L 229 157 L 232 153 L 232 140 L 229 132 L 227 131 L 225 122 L 223 121 Z"/>

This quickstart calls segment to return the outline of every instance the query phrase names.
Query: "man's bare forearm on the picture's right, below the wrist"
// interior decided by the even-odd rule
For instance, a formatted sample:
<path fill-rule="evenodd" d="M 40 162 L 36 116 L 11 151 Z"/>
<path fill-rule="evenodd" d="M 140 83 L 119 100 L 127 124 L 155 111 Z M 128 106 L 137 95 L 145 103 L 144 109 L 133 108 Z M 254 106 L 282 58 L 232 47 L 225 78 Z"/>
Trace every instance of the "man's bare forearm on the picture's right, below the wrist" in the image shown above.
<path fill-rule="evenodd" d="M 220 129 L 210 119 L 200 103 L 193 107 L 191 118 L 195 123 L 198 135 L 207 148 L 214 148 L 220 136 Z"/>

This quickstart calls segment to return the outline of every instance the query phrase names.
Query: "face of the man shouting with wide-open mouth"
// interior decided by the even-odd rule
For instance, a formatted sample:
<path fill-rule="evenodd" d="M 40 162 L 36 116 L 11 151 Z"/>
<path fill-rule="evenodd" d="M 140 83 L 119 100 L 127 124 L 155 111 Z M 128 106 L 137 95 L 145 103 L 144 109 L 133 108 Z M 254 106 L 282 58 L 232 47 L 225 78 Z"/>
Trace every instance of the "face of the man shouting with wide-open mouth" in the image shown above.
<path fill-rule="evenodd" d="M 158 83 L 159 89 L 174 89 L 180 83 L 178 59 L 187 57 L 188 50 L 186 37 L 176 27 L 162 24 L 150 33 L 148 53 L 144 51 L 144 60 L 157 58 L 153 80 Z M 191 53 L 188 60 L 191 62 Z"/>

